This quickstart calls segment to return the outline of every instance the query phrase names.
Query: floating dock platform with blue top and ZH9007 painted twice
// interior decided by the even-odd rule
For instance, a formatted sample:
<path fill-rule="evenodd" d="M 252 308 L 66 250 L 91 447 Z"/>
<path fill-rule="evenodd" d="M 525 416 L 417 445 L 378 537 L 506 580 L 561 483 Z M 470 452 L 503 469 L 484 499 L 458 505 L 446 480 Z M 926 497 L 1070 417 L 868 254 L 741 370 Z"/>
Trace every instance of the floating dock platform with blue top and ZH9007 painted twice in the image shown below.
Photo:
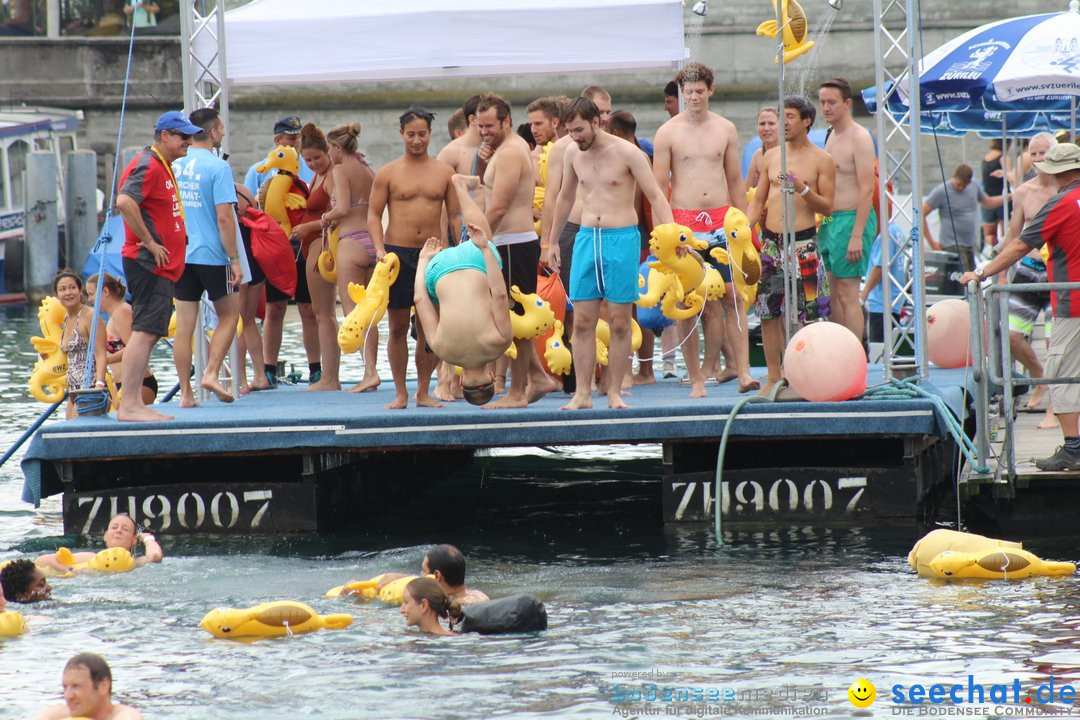
<path fill-rule="evenodd" d="M 756 373 L 760 370 L 755 369 Z M 883 378 L 868 369 L 869 384 Z M 934 370 L 923 386 L 958 417 L 963 370 Z M 734 383 L 690 398 L 674 381 L 638 385 L 630 409 L 565 411 L 552 393 L 527 409 L 386 410 L 391 394 L 252 393 L 216 399 L 164 423 L 114 416 L 45 425 L 23 460 L 23 499 L 64 494 L 68 533 L 92 533 L 116 512 L 157 532 L 330 529 L 402 501 L 496 447 L 660 444 L 663 517 L 712 519 L 717 449 Z M 732 422 L 720 506 L 730 521 L 814 525 L 930 520 L 955 506 L 956 447 L 929 398 L 752 403 Z M 955 512 L 955 511 L 954 511 Z"/>

